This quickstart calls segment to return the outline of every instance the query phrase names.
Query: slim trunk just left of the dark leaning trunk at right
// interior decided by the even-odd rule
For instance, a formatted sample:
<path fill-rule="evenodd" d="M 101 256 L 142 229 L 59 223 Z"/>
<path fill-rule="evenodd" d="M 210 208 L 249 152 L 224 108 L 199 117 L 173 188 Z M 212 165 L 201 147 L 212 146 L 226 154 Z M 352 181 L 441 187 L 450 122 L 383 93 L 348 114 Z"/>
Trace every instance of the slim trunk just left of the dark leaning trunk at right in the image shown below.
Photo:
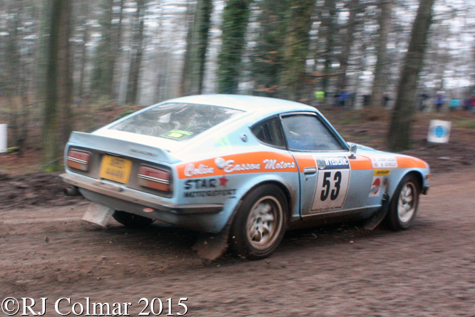
<path fill-rule="evenodd" d="M 391 29 L 392 0 L 380 0 L 379 8 L 381 9 L 381 16 L 379 16 L 379 41 L 369 108 L 384 106 L 384 90 L 386 90 L 387 85 L 385 69 L 387 64 L 387 40 Z"/>

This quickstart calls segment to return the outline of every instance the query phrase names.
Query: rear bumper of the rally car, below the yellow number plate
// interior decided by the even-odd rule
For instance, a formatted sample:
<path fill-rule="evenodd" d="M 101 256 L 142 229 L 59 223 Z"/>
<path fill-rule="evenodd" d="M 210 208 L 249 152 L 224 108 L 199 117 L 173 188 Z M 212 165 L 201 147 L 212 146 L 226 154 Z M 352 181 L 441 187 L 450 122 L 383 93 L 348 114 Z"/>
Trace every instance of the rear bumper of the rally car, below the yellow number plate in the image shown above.
<path fill-rule="evenodd" d="M 69 174 L 61 174 L 59 177 L 63 182 L 67 182 L 80 189 L 86 189 L 88 192 L 95 192 L 160 212 L 168 212 L 170 214 L 217 214 L 223 210 L 223 204 L 173 204 L 164 201 L 161 197 L 148 197 L 127 187 L 112 185 L 101 180 L 91 180 L 87 177 Z M 101 204 L 101 202 L 98 202 L 98 204 Z"/>

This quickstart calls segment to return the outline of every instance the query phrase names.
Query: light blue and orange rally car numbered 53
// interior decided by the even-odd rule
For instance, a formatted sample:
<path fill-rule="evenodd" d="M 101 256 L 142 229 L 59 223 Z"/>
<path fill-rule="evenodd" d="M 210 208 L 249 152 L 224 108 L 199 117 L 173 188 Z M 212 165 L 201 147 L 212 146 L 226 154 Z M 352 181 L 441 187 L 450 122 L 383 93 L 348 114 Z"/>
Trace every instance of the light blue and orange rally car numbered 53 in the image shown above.
<path fill-rule="evenodd" d="M 121 224 L 228 230 L 247 259 L 292 227 L 407 229 L 430 177 L 423 160 L 345 142 L 315 108 L 245 95 L 177 98 L 73 132 L 65 166 L 62 180 Z"/>

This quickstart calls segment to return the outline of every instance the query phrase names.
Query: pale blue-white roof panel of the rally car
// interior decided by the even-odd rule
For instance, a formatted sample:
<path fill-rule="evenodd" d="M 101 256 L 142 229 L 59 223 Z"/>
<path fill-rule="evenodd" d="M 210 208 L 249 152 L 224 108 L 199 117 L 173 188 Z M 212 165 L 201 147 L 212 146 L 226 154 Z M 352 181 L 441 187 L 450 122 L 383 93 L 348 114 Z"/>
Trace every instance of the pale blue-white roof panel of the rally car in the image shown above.
<path fill-rule="evenodd" d="M 294 101 L 252 95 L 190 95 L 167 100 L 165 103 L 198 103 L 242 110 L 247 113 L 275 113 L 278 111 L 315 111 L 310 105 Z"/>

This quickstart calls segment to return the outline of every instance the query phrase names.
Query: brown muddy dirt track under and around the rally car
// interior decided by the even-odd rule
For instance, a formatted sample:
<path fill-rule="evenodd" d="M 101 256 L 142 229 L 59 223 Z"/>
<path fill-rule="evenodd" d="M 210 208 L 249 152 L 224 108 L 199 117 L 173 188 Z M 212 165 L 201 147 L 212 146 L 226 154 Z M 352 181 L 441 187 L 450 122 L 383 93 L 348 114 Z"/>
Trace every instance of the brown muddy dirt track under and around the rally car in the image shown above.
<path fill-rule="evenodd" d="M 131 303 L 127 313 L 138 316 L 141 298 L 160 298 L 166 316 L 172 298 L 178 316 L 186 297 L 186 316 L 475 316 L 470 168 L 434 175 L 406 232 L 357 224 L 288 232 L 265 261 L 203 261 L 193 232 L 113 221 L 101 229 L 81 222 L 86 201 L 71 202 L 1 210 L 0 300 L 47 297 L 44 316 L 60 316 L 54 304 L 63 297 L 71 305 L 61 301 L 61 313 L 88 297 L 111 313 L 113 303 Z"/>

